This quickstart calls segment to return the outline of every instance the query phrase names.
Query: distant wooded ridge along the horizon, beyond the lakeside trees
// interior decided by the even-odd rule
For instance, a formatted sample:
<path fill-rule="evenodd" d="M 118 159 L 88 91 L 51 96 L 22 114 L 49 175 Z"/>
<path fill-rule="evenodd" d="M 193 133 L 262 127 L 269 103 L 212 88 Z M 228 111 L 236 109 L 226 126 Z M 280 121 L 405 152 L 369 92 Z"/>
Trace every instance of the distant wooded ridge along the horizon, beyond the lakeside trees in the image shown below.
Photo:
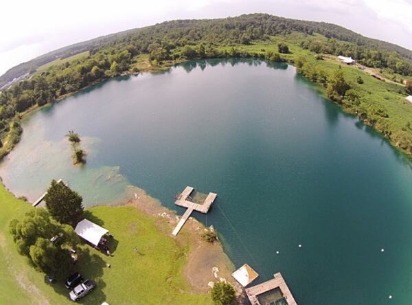
<path fill-rule="evenodd" d="M 290 34 L 291 32 L 301 32 L 308 35 L 319 33 L 326 38 L 353 43 L 361 48 L 374 49 L 382 53 L 396 52 L 402 58 L 412 59 L 412 51 L 409 49 L 394 45 L 393 43 L 362 36 L 361 34 L 345 29 L 345 27 L 332 23 L 301 21 L 269 14 L 245 14 L 225 19 L 165 21 L 157 25 L 109 34 L 91 39 L 90 41 L 62 47 L 53 52 L 38 56 L 26 63 L 12 67 L 0 76 L 0 88 L 14 78 L 18 78 L 26 73 L 32 73 L 36 71 L 38 67 L 50 63 L 57 58 L 67 58 L 80 52 L 104 49 L 123 43 L 141 45 L 141 41 L 139 40 L 146 41 L 147 38 L 151 38 L 151 40 L 154 41 L 155 39 L 163 39 L 165 36 L 174 39 L 183 38 L 186 34 L 189 34 L 187 37 L 189 41 L 208 40 L 214 43 L 237 44 L 241 43 L 243 34 L 249 35 L 252 39 L 260 39 L 263 38 L 264 35 L 273 36 Z M 150 41 L 146 43 L 146 49 L 144 45 L 139 47 L 139 51 L 147 51 L 149 43 Z M 357 58 L 358 56 L 354 54 L 353 57 Z"/>

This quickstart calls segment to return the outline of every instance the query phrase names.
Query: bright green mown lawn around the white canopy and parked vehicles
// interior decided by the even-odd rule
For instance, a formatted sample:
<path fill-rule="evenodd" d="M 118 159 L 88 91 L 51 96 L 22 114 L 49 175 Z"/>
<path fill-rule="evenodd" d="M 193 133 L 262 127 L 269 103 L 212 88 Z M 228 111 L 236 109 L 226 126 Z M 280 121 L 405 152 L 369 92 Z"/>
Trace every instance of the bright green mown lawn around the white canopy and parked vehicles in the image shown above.
<path fill-rule="evenodd" d="M 8 223 L 30 208 L 0 185 L 0 304 L 72 304 L 62 283 L 47 284 L 16 252 Z M 90 260 L 79 262 L 82 275 L 98 284 L 80 304 L 211 304 L 209 295 L 192 293 L 183 278 L 189 247 L 162 233 L 163 218 L 131 206 L 93 207 L 87 218 L 115 239 L 112 256 L 91 250 Z"/>

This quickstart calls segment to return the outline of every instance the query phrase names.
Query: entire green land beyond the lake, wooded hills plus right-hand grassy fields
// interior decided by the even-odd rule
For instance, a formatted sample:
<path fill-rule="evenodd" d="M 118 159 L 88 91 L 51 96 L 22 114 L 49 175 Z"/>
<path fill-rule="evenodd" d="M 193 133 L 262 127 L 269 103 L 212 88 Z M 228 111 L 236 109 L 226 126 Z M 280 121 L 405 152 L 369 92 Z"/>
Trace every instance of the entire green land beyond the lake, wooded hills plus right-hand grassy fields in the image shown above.
<path fill-rule="evenodd" d="M 87 47 L 89 51 L 84 51 Z M 412 52 L 343 27 L 248 14 L 166 21 L 80 43 L 78 48 L 82 52 L 37 67 L 30 78 L 1 91 L 0 157 L 19 142 L 21 117 L 38 106 L 52 104 L 113 76 L 159 71 L 191 59 L 235 57 L 293 63 L 298 73 L 327 89 L 328 98 L 374 126 L 393 146 L 412 155 L 412 107 L 404 100 L 412 94 L 412 60 L 407 59 Z M 62 56 L 73 54 L 74 49 L 65 50 L 69 53 Z M 369 68 L 343 69 L 335 60 L 338 55 L 352 56 Z M 343 73 L 337 76 L 342 80 L 336 79 L 336 71 Z M 384 78 L 379 75 L 384 75 L 387 81 L 370 74 L 380 79 Z M 336 87 L 336 82 L 343 85 L 343 90 Z M 350 94 L 345 95 L 346 91 Z"/>

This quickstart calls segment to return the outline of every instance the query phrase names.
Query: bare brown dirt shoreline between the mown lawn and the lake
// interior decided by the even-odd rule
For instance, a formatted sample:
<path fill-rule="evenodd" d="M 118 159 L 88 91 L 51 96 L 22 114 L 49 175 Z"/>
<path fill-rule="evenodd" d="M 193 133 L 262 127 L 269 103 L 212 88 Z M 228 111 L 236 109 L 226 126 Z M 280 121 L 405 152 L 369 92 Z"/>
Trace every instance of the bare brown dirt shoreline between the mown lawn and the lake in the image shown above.
<path fill-rule="evenodd" d="M 16 199 L 25 201 L 27 205 L 32 205 L 24 196 L 16 197 L 5 186 L 1 178 L 0 183 Z M 87 207 L 86 210 L 93 209 L 93 207 L 108 207 L 111 209 L 124 206 L 135 207 L 139 212 L 155 221 L 156 227 L 161 234 L 172 238 L 172 229 L 179 222 L 181 216 L 162 205 L 158 199 L 150 196 L 145 190 L 132 185 L 130 187 L 135 192 L 135 198 L 126 201 L 114 201 L 111 205 L 96 204 Z M 244 289 L 231 277 L 231 273 L 235 270 L 235 265 L 227 253 L 225 253 L 220 240 L 213 243 L 203 240 L 202 234 L 205 229 L 206 227 L 203 223 L 197 221 L 194 217 L 190 217 L 181 232 L 179 232 L 179 235 L 174 237 L 179 245 L 189 247 L 189 251 L 186 253 L 186 262 L 183 266 L 183 277 L 190 284 L 194 293 L 208 293 L 210 289 L 208 284 L 210 282 L 229 282 L 235 287 L 238 298 L 242 300 Z"/>

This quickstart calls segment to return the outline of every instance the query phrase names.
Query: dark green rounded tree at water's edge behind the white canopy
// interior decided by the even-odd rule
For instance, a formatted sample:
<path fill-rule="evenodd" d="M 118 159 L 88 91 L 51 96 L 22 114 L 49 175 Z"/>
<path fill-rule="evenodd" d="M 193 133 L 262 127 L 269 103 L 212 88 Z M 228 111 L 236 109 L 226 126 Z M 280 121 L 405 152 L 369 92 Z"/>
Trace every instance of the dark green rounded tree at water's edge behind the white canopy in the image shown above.
<path fill-rule="evenodd" d="M 71 190 L 65 183 L 53 180 L 47 194 L 45 203 L 47 210 L 56 221 L 75 227 L 83 217 L 82 196 Z"/>

